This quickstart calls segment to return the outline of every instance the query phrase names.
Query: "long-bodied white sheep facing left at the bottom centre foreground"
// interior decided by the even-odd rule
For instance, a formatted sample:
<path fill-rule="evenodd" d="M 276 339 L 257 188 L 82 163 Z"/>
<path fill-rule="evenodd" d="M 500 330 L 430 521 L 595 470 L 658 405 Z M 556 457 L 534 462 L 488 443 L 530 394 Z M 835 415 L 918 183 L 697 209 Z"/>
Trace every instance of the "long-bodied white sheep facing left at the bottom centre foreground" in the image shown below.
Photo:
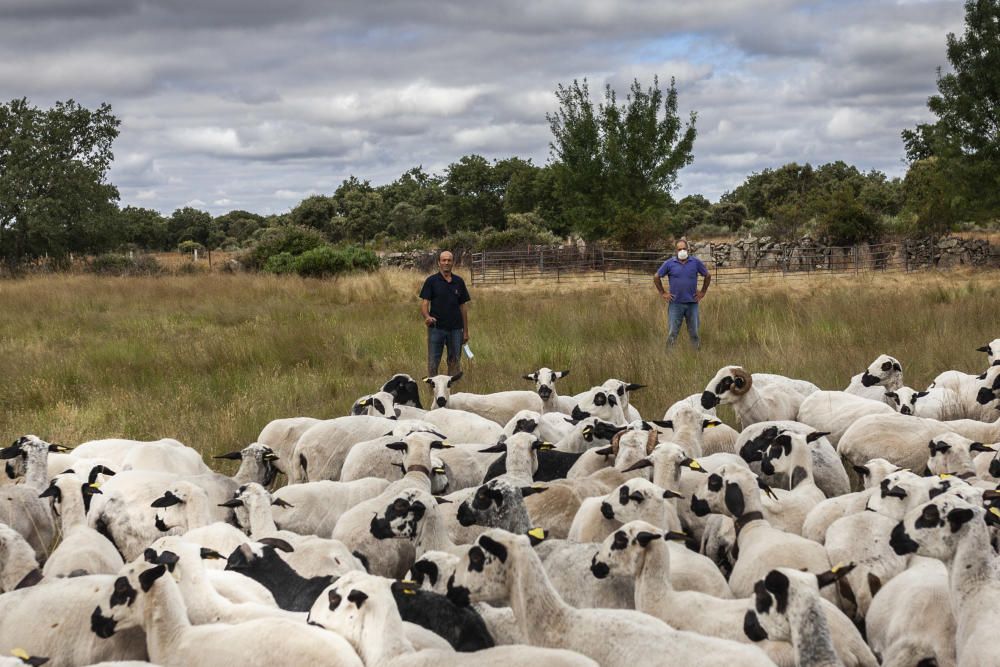
<path fill-rule="evenodd" d="M 490 530 L 462 556 L 449 583 L 455 601 L 510 601 L 519 628 L 534 646 L 571 648 L 605 667 L 656 659 L 669 664 L 772 665 L 735 642 L 678 632 L 626 609 L 576 609 L 552 587 L 527 537 Z"/>

